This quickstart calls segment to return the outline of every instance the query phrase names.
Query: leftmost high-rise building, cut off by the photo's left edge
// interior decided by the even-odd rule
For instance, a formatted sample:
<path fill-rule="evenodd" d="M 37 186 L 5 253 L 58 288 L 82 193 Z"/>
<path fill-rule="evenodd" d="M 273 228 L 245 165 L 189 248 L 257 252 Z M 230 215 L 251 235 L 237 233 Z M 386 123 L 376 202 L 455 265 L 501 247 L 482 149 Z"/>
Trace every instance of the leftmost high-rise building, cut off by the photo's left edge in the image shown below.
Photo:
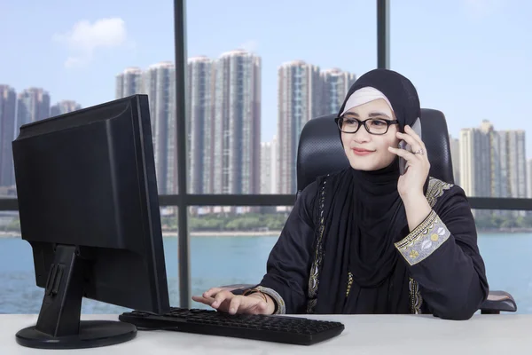
<path fill-rule="evenodd" d="M 12 141 L 15 138 L 17 94 L 8 85 L 0 85 L 0 186 L 15 184 Z"/>

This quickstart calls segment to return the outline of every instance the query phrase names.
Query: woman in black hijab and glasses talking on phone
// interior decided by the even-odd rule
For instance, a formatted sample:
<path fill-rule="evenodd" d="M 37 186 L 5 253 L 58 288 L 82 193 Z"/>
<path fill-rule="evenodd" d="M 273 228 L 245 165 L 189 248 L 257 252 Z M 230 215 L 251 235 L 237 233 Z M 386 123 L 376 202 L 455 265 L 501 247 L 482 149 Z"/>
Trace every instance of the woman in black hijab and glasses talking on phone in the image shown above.
<path fill-rule="evenodd" d="M 428 177 L 425 145 L 411 129 L 419 114 L 403 75 L 361 76 L 336 119 L 350 167 L 303 190 L 259 285 L 192 298 L 230 313 L 471 318 L 489 288 L 473 215 L 459 186 Z"/>

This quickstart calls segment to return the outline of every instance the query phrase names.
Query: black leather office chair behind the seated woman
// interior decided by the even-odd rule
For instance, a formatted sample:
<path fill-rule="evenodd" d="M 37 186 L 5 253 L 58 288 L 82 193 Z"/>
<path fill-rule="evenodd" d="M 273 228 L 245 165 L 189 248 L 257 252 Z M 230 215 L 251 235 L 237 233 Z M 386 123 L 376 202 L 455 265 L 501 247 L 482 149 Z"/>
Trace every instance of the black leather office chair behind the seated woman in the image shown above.
<path fill-rule="evenodd" d="M 317 177 L 342 170 L 349 165 L 341 146 L 335 114 L 310 120 L 301 130 L 297 151 L 297 194 Z M 442 112 L 421 109 L 421 135 L 430 162 L 429 175 L 454 184 L 447 122 Z M 516 312 L 512 295 L 505 291 L 489 291 L 488 299 L 481 305 L 481 314 Z"/>

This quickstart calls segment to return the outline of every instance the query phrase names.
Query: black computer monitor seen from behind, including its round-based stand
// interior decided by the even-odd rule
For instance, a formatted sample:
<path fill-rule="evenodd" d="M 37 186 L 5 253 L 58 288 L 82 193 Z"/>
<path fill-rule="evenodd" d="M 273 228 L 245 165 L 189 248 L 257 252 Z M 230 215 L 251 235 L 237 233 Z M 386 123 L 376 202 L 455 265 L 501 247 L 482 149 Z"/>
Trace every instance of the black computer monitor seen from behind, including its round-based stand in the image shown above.
<path fill-rule="evenodd" d="M 20 231 L 44 288 L 36 325 L 16 335 L 21 345 L 87 348 L 136 336 L 118 320 L 80 321 L 82 297 L 169 312 L 152 139 L 146 95 L 20 127 Z"/>

